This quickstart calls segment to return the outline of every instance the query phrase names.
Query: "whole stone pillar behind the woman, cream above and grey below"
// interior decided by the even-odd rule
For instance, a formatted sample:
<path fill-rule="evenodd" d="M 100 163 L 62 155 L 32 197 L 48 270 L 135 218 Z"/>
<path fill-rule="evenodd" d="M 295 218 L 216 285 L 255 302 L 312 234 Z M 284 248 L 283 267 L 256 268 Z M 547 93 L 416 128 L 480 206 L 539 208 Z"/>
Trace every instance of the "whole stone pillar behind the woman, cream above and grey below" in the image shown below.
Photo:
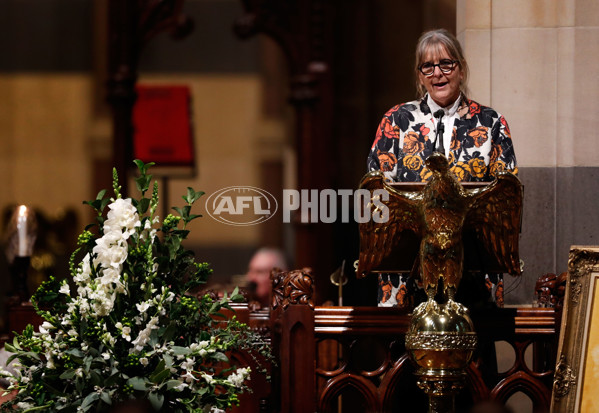
<path fill-rule="evenodd" d="M 528 303 L 540 274 L 566 269 L 570 245 L 596 243 L 599 3 L 458 0 L 456 32 L 471 98 L 502 113 L 514 139 L 525 267 L 506 303 Z"/>

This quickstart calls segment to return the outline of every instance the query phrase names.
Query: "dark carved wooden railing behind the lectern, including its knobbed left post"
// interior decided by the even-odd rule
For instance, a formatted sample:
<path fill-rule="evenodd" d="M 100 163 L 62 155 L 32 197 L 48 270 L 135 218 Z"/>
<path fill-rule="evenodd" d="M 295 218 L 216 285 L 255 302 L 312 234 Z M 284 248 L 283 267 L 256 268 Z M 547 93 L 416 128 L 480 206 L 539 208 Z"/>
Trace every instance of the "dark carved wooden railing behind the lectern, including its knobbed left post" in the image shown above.
<path fill-rule="evenodd" d="M 291 287 L 300 284 L 298 279 L 309 284 L 309 276 L 299 271 L 281 274 L 291 278 L 279 282 L 285 288 L 273 301 L 279 365 L 272 410 L 426 412 L 427 398 L 416 386 L 405 352 L 410 315 L 390 308 L 314 307 L 309 291 Z M 468 409 L 482 401 L 504 404 L 522 392 L 532 400 L 535 413 L 548 412 L 559 313 L 553 308 L 494 309 L 474 313 L 472 319 L 479 348 L 457 407 Z M 513 365 L 503 372 L 495 358 L 498 341 L 509 343 L 515 353 Z M 529 351 L 532 357 L 527 357 Z"/>

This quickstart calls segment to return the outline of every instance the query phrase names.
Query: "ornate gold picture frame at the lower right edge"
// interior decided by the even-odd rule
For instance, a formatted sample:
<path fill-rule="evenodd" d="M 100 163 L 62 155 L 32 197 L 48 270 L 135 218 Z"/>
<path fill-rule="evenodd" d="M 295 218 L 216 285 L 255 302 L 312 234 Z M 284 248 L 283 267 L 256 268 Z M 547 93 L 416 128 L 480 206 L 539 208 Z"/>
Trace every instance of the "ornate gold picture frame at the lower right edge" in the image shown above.
<path fill-rule="evenodd" d="M 573 246 L 551 411 L 599 411 L 599 247 Z"/>

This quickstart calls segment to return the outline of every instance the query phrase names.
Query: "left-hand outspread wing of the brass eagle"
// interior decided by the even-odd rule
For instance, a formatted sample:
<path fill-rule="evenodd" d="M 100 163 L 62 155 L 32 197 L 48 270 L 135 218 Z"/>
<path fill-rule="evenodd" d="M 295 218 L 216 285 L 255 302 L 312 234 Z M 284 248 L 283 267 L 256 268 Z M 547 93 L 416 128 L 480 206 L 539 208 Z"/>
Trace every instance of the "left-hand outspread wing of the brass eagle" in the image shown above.
<path fill-rule="evenodd" d="M 419 205 L 422 194 L 419 192 L 398 191 L 385 182 L 380 171 L 367 173 L 360 182 L 360 189 L 370 191 L 370 219 L 359 224 L 360 230 L 360 256 L 356 274 L 358 278 L 364 277 L 381 261 L 389 256 L 393 247 L 398 243 L 404 230 L 412 230 L 420 234 L 422 213 Z M 376 196 L 375 190 L 385 190 L 389 194 L 388 200 Z M 380 191 L 379 191 L 380 192 Z M 378 198 L 378 199 L 377 199 Z M 381 205 L 387 211 L 381 211 Z M 388 219 L 376 222 L 375 214 L 383 212 L 383 217 Z M 385 215 L 386 214 L 386 215 Z"/>

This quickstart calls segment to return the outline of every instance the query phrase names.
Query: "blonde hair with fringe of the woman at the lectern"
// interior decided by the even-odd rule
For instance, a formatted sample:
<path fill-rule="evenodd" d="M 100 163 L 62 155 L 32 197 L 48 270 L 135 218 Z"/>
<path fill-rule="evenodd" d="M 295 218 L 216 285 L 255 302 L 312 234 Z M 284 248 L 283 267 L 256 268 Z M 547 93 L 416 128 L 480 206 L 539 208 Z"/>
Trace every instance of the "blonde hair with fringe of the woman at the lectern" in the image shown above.
<path fill-rule="evenodd" d="M 468 92 L 468 63 L 464 58 L 462 46 L 460 46 L 458 39 L 447 30 L 436 29 L 422 33 L 420 39 L 418 39 L 418 44 L 416 45 L 416 67 L 414 68 L 414 71 L 416 73 L 416 90 L 418 91 L 418 97 L 422 97 L 426 93 L 426 89 L 420 84 L 420 70 L 418 68 L 424 63 L 424 59 L 431 49 L 439 50 L 439 48 L 445 49 L 453 60 L 458 61 L 458 66 L 462 71 L 460 91 L 466 96 Z"/>

